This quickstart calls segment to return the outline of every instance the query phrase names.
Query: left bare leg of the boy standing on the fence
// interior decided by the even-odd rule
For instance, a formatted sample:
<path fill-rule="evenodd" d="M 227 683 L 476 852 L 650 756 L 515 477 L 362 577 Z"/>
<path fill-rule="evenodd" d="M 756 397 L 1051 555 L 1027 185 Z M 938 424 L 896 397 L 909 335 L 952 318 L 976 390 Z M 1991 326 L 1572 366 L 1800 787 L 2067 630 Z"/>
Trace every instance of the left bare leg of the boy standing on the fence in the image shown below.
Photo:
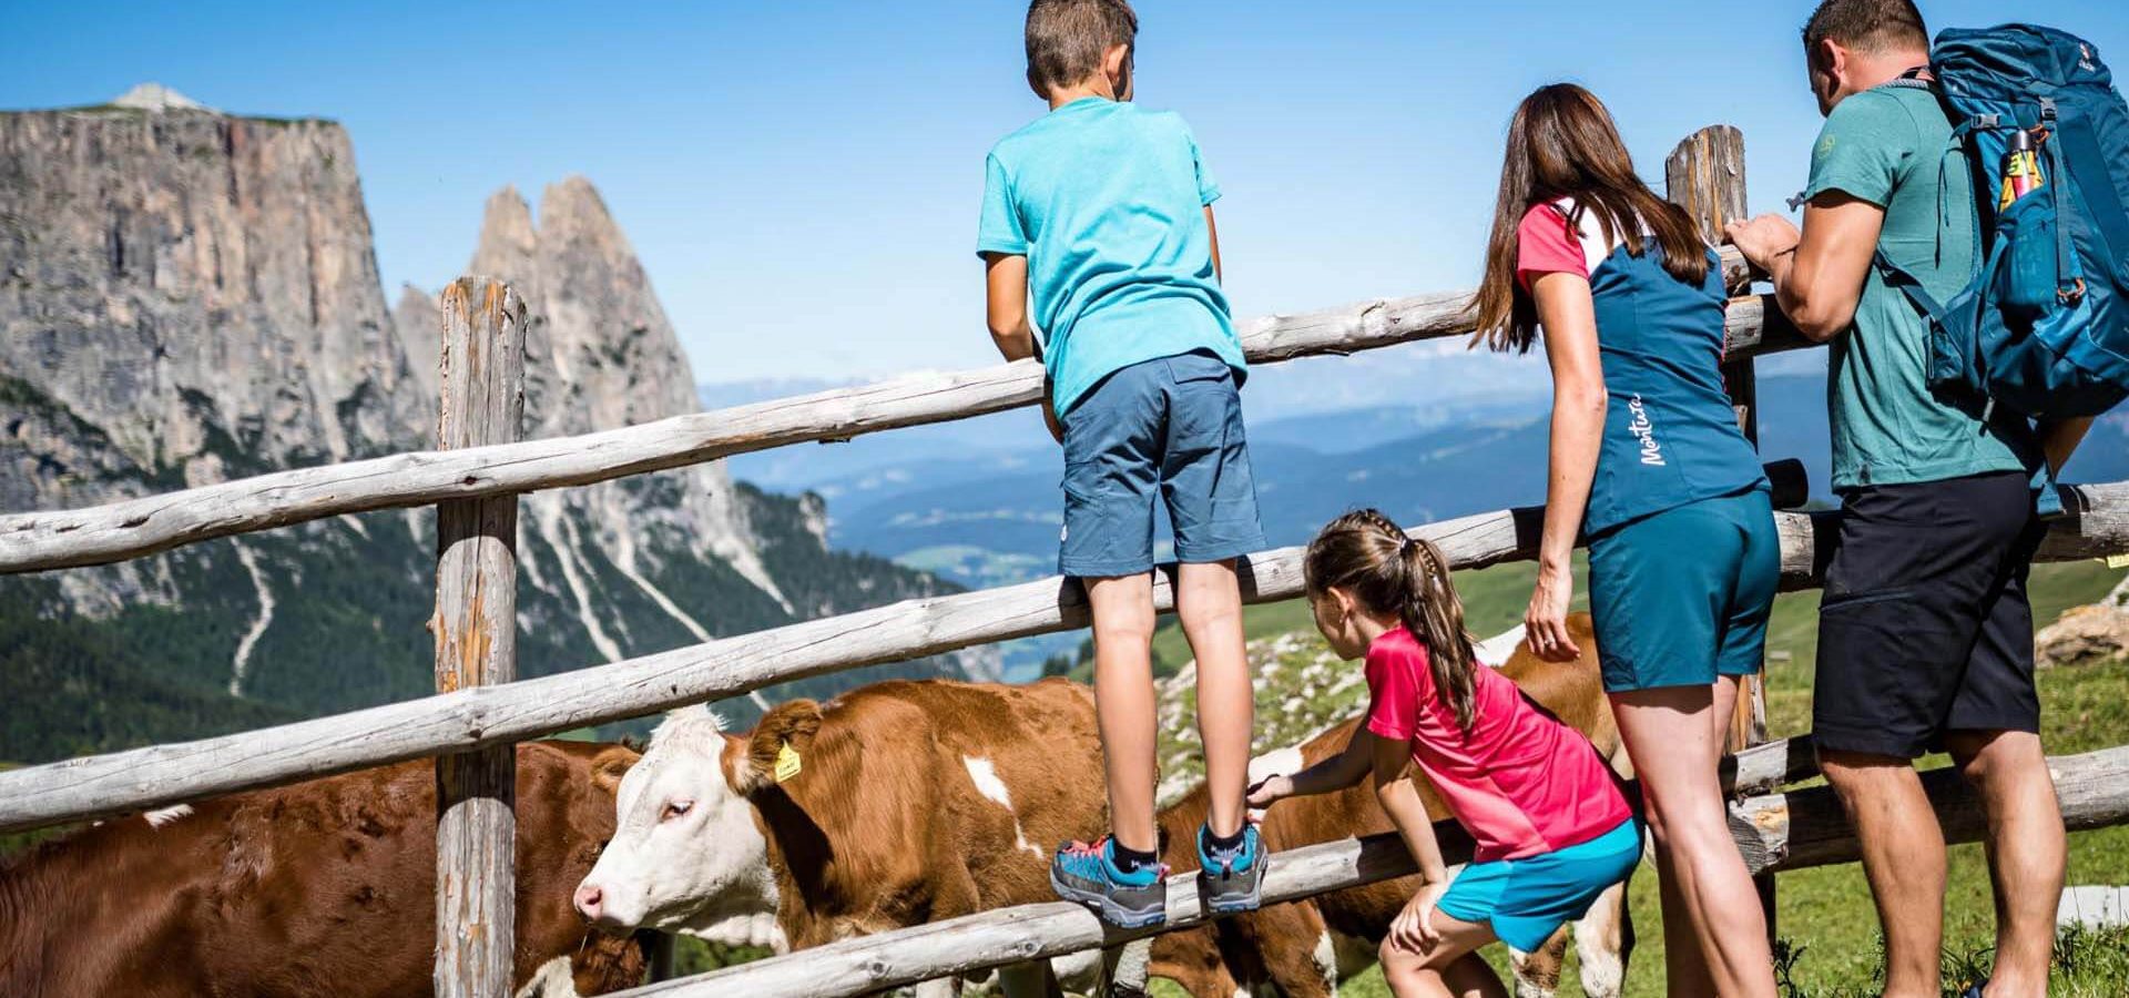
<path fill-rule="evenodd" d="M 1094 613 L 1094 719 L 1118 845 L 1160 849 L 1154 832 L 1154 577 L 1086 579 Z"/>

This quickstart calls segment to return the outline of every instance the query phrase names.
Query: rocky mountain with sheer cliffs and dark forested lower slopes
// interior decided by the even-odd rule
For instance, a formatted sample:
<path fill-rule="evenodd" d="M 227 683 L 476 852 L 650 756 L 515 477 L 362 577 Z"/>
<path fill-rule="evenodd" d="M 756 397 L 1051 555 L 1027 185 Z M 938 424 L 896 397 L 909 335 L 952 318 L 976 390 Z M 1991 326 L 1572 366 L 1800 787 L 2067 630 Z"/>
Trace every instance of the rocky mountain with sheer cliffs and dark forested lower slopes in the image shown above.
<path fill-rule="evenodd" d="M 528 302 L 528 436 L 696 411 L 679 338 L 588 181 L 549 187 L 537 226 L 498 194 L 471 270 Z M 434 447 L 439 326 L 422 289 L 385 309 L 336 123 L 224 115 L 160 87 L 0 113 L 0 511 Z M 524 502 L 522 677 L 950 589 L 830 551 L 818 500 L 735 485 L 722 464 Z M 0 698 L 0 758 L 419 696 L 432 572 L 434 517 L 385 511 L 0 577 L 0 649 L 36 677 Z"/>

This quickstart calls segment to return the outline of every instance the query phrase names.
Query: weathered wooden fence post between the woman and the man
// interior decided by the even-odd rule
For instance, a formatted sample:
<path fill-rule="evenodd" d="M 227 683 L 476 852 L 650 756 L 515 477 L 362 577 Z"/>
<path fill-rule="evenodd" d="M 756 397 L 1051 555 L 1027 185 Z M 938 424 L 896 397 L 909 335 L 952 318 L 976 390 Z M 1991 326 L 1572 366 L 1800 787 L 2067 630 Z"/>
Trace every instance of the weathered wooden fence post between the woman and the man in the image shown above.
<path fill-rule="evenodd" d="M 1686 209 L 1701 226 L 1707 243 L 1722 243 L 1722 228 L 1750 217 L 1744 192 L 1744 132 L 1735 126 L 1707 126 L 1686 136 L 1671 149 L 1663 164 L 1663 179 L 1671 202 Z M 1731 294 L 1750 289 L 1748 270 L 1722 275 Z M 1731 404 L 1737 406 L 1737 426 L 1744 436 L 1759 447 L 1759 379 L 1752 372 L 1752 357 L 1739 357 L 1722 366 L 1722 385 Z M 1737 698 L 1731 715 L 1729 749 L 1737 751 L 1767 741 L 1767 687 L 1761 677 L 1752 677 Z M 1767 911 L 1767 941 L 1776 938 L 1773 875 L 1761 875 L 1759 902 Z"/>

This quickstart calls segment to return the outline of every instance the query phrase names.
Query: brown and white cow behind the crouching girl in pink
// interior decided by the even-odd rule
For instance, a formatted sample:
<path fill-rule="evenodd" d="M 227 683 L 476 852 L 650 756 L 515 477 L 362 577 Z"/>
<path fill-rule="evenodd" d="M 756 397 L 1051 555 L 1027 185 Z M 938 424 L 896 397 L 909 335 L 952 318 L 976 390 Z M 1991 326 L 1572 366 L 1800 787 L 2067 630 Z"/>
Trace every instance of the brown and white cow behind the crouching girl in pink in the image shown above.
<path fill-rule="evenodd" d="M 1618 747 L 1618 728 L 1603 696 L 1597 670 L 1597 643 L 1588 615 L 1569 617 L 1582 658 L 1567 664 L 1544 662 L 1520 643 L 1520 630 L 1509 641 L 1486 645 L 1507 647 L 1501 672 L 1522 687 L 1524 696 L 1561 721 L 1590 736 L 1597 751 L 1627 772 L 1627 753 Z M 1490 649 L 1480 660 L 1499 662 Z M 1346 749 L 1360 719 L 1348 719 L 1301 747 L 1280 749 L 1252 762 L 1250 777 L 1294 772 Z M 1448 809 L 1433 787 L 1420 781 L 1426 813 L 1448 819 Z M 1205 821 L 1205 787 L 1192 789 L 1179 802 L 1162 809 L 1160 828 L 1165 860 L 1175 870 L 1196 868 L 1192 836 Z M 1273 849 L 1331 843 L 1356 834 L 1390 832 L 1390 819 L 1375 802 L 1375 792 L 1363 783 L 1339 794 L 1282 800 L 1265 813 L 1260 832 Z M 1418 889 L 1409 877 L 1324 894 L 1294 904 L 1218 921 L 1214 926 L 1156 936 L 1152 945 L 1152 977 L 1167 977 L 1196 998 L 1231 998 L 1245 989 L 1277 987 L 1288 998 L 1337 994 L 1337 985 L 1375 964 L 1375 949 L 1405 900 Z M 1627 892 L 1614 887 L 1575 924 L 1575 947 L 1582 958 L 1582 987 L 1590 998 L 1620 994 L 1627 955 L 1633 949 L 1633 926 L 1627 917 Z M 1516 994 L 1550 996 L 1561 979 L 1567 953 L 1567 930 L 1554 934 L 1537 953 L 1516 953 Z"/>

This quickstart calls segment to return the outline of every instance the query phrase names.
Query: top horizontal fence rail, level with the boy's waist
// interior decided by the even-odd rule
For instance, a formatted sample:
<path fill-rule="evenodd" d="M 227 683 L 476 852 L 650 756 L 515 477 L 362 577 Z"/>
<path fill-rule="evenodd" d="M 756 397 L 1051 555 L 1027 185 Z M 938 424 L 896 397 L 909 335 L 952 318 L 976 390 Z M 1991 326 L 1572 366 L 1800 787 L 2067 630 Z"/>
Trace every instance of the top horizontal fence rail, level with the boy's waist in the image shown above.
<path fill-rule="evenodd" d="M 1731 249 L 1724 249 L 1735 253 Z M 1733 260 L 1733 257 L 1731 257 Z M 1252 364 L 1337 355 L 1471 332 L 1469 292 L 1271 315 L 1239 328 Z M 1731 355 L 1803 347 L 1761 298 L 1731 302 Z M 1776 313 L 1778 315 L 1778 313 Z M 377 509 L 590 485 L 807 440 L 1001 413 L 1041 400 L 1033 360 L 913 375 L 581 436 L 296 468 L 75 511 L 0 515 L 0 575 L 143 558 L 219 536 Z"/>

